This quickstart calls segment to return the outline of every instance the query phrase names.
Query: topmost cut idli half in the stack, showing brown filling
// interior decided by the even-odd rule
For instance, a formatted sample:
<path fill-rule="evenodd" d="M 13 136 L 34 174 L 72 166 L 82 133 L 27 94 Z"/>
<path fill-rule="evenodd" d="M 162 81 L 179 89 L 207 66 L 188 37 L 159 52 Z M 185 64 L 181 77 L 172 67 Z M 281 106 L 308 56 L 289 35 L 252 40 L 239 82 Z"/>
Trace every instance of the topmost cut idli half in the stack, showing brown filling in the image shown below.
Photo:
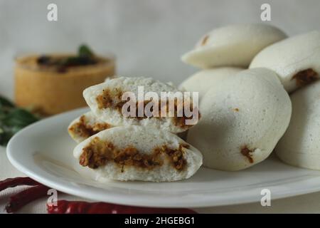
<path fill-rule="evenodd" d="M 156 95 L 159 100 L 147 97 L 147 93 Z M 165 98 L 162 97 L 162 93 L 166 94 Z M 181 95 L 180 101 L 175 99 L 178 98 L 176 94 Z M 195 125 L 199 118 L 198 97 L 194 99 L 191 94 L 185 95 L 176 87 L 152 78 L 113 78 L 86 88 L 83 96 L 92 112 L 111 125 L 144 125 L 171 133 L 181 133 Z M 173 108 L 169 108 L 172 107 L 169 100 L 173 100 Z M 134 108 L 128 105 L 130 103 Z M 142 113 L 138 113 L 140 105 Z M 151 115 L 146 115 L 145 110 L 148 107 L 152 110 L 149 113 Z M 186 115 L 185 108 L 190 108 L 192 115 Z"/>

